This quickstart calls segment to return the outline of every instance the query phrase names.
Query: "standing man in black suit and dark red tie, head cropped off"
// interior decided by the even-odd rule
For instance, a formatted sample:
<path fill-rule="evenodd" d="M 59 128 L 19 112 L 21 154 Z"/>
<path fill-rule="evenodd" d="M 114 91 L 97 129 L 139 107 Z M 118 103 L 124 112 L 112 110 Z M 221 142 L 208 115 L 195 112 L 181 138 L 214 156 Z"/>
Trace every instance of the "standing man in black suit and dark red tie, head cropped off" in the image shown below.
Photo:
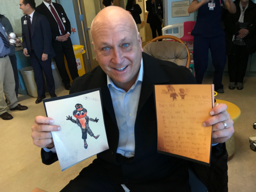
<path fill-rule="evenodd" d="M 52 47 L 56 56 L 54 60 L 60 72 L 62 82 L 66 90 L 70 89 L 70 79 L 64 63 L 64 55 L 67 60 L 71 78 L 77 78 L 78 70 L 73 45 L 70 39 L 71 26 L 63 7 L 51 0 L 43 0 L 36 7 L 36 11 L 48 19 L 52 31 Z"/>

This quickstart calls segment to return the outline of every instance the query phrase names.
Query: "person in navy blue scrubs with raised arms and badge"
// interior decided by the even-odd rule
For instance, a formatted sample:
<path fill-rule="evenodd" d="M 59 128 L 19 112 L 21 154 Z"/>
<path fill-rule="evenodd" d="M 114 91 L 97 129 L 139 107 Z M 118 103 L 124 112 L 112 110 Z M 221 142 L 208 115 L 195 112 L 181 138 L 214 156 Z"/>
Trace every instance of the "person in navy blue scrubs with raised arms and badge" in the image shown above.
<path fill-rule="evenodd" d="M 193 0 L 188 13 L 197 11 L 197 20 L 191 35 L 194 36 L 194 67 L 196 81 L 202 84 L 204 73 L 208 67 L 208 51 L 210 49 L 212 63 L 215 68 L 214 90 L 224 93 L 222 75 L 226 64 L 225 33 L 221 26 L 223 5 L 230 13 L 236 12 L 232 0 Z"/>

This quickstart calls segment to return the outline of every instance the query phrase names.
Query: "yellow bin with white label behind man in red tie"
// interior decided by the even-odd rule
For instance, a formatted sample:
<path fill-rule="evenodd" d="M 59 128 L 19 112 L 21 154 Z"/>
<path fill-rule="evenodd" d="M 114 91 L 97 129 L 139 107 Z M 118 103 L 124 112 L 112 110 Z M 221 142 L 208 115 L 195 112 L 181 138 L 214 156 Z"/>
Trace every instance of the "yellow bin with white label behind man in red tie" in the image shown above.
<path fill-rule="evenodd" d="M 77 69 L 78 69 L 78 75 L 82 76 L 83 74 L 85 74 L 84 61 L 83 61 L 83 56 L 82 56 L 82 54 L 85 53 L 84 46 L 83 45 L 73 45 L 73 50 L 74 50 L 74 54 L 75 54 L 75 57 L 76 57 L 76 66 L 77 66 Z M 71 78 L 71 75 L 70 75 L 70 72 L 69 72 L 69 69 L 68 69 L 67 60 L 66 60 L 65 56 L 64 56 L 64 62 L 65 62 L 66 70 L 68 72 L 70 83 L 72 83 L 73 80 Z"/>

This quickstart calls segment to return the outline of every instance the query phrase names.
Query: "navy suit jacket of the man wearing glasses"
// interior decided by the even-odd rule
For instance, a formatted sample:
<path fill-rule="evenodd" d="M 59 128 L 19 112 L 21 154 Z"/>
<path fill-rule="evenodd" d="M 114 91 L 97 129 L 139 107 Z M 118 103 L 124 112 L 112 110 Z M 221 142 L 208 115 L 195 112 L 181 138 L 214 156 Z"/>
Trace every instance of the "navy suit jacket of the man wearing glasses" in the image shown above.
<path fill-rule="evenodd" d="M 26 20 L 26 24 L 24 21 Z M 28 29 L 28 15 L 21 17 L 21 27 L 22 27 L 22 46 L 23 49 L 27 48 L 28 54 L 31 54 L 31 46 L 29 39 L 29 29 Z M 48 58 L 55 56 L 54 50 L 51 44 L 51 28 L 45 16 L 34 12 L 31 25 L 31 44 L 35 51 L 38 59 L 42 59 L 42 54 L 48 54 Z"/>

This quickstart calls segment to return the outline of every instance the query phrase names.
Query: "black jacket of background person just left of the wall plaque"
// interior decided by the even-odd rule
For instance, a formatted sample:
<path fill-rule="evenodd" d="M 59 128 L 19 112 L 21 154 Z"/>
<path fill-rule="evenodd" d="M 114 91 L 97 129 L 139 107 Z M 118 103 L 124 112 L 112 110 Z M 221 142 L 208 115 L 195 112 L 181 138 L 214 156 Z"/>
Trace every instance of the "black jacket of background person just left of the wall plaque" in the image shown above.
<path fill-rule="evenodd" d="M 158 15 L 158 17 L 161 17 L 163 19 L 164 18 L 164 15 L 163 15 L 163 1 L 162 0 L 155 0 L 155 3 L 156 3 L 157 15 Z M 158 9 L 159 6 L 161 7 L 161 9 Z M 151 23 L 152 20 L 153 20 L 153 4 L 151 3 L 151 0 L 146 1 L 146 10 L 148 11 L 147 23 Z M 160 20 L 160 18 L 159 18 L 161 23 L 162 23 L 162 19 Z"/>

